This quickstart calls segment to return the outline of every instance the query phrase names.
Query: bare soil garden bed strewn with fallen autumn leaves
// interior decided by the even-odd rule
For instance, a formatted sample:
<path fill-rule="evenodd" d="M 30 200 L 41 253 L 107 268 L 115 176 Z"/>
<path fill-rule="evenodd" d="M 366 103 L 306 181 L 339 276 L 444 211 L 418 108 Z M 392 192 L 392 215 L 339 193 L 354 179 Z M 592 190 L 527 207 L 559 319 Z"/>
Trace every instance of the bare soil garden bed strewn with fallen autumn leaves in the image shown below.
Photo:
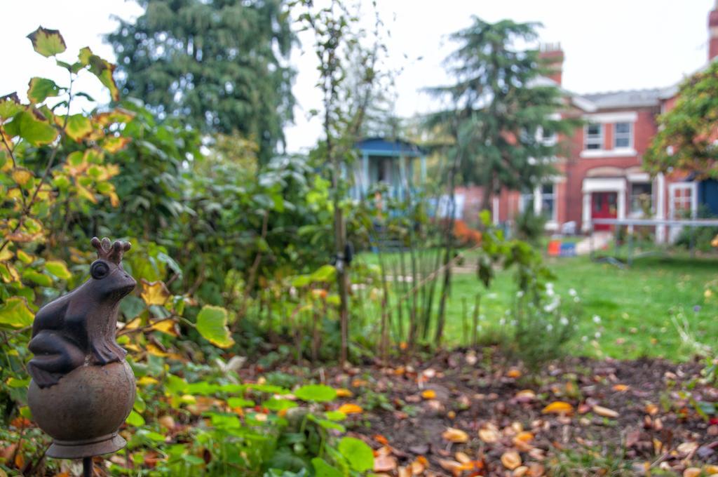
<path fill-rule="evenodd" d="M 529 378 L 485 349 L 323 375 L 348 390 L 336 405 L 362 408 L 348 430 L 386 475 L 718 472 L 718 390 L 701 363 L 571 358 Z"/>

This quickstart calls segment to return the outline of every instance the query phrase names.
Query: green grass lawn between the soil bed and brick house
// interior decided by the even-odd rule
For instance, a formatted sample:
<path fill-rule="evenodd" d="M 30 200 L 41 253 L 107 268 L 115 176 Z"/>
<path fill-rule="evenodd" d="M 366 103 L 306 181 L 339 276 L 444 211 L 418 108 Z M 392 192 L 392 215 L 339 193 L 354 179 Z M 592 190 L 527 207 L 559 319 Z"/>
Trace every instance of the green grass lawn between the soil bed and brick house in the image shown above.
<path fill-rule="evenodd" d="M 362 258 L 374 261 L 375 257 L 362 254 Z M 701 343 L 714 346 L 718 340 L 718 306 L 704 298 L 704 285 L 718 277 L 718 258 L 654 256 L 638 259 L 627 269 L 588 257 L 548 259 L 548 263 L 557 277 L 556 292 L 568 299 L 569 289 L 574 289 L 583 305 L 579 333 L 571 343 L 573 353 L 688 359 L 691 348 L 681 340 L 673 317 L 681 323 L 685 318 Z M 485 290 L 473 273 L 455 274 L 452 286 L 449 344 L 462 343 L 462 297 L 470 308 L 477 292 L 482 292 L 482 332 L 500 328 L 515 292 L 510 272 L 500 272 L 491 290 Z"/>

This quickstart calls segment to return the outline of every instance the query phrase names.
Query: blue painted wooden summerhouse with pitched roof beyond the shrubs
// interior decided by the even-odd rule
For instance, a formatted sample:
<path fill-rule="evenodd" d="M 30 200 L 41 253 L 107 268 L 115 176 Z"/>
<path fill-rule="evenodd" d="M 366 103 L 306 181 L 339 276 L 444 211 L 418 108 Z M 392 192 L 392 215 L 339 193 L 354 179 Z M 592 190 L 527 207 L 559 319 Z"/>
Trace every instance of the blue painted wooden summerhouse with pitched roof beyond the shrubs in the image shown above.
<path fill-rule="evenodd" d="M 383 182 L 389 195 L 402 198 L 406 188 L 415 187 L 414 171 L 419 159 L 421 182 L 426 179 L 426 152 L 401 139 L 368 137 L 356 143 L 359 160 L 353 170 L 353 198 L 361 200 L 374 185 Z"/>

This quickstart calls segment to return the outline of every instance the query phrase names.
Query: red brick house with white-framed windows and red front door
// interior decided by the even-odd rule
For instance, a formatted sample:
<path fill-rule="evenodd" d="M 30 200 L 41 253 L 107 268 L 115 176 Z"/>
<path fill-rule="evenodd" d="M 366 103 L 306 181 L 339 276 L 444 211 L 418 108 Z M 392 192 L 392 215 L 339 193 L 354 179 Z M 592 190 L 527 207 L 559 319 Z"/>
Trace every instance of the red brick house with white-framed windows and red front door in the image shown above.
<path fill-rule="evenodd" d="M 544 81 L 561 86 L 563 52 L 546 45 L 541 55 L 556 65 L 556 73 Z M 718 9 L 709 14 L 709 56 L 718 55 Z M 560 174 L 533 191 L 504 190 L 493 198 L 496 222 L 513 221 L 518 213 L 533 208 L 548 219 L 549 231 L 574 229 L 577 233 L 601 227 L 595 218 L 673 218 L 693 216 L 699 203 L 699 184 L 679 173 L 650 177 L 641 163 L 656 134 L 656 116 L 673 106 L 677 86 L 638 91 L 611 91 L 577 95 L 564 91 L 562 116 L 579 116 L 585 126 L 570 138 L 547 137 L 567 147 L 565 157 L 556 157 Z M 481 208 L 480 187 L 460 187 L 457 199 L 467 219 Z M 605 228 L 607 228 L 605 226 Z M 656 240 L 665 241 L 672 231 L 656 230 Z"/>

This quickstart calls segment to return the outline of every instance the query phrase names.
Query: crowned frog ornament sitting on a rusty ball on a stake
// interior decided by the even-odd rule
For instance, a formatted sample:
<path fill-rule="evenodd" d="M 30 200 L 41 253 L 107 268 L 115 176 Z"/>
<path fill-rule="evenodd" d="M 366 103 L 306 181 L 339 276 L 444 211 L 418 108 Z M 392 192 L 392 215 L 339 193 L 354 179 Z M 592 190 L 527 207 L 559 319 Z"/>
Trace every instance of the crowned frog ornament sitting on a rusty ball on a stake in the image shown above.
<path fill-rule="evenodd" d="M 35 316 L 27 392 L 34 421 L 53 439 L 47 455 L 83 458 L 85 475 L 94 455 L 126 445 L 117 431 L 135 399 L 134 374 L 115 341 L 120 301 L 136 285 L 121 264 L 130 244 L 91 243 L 98 258 L 90 279 Z"/>

